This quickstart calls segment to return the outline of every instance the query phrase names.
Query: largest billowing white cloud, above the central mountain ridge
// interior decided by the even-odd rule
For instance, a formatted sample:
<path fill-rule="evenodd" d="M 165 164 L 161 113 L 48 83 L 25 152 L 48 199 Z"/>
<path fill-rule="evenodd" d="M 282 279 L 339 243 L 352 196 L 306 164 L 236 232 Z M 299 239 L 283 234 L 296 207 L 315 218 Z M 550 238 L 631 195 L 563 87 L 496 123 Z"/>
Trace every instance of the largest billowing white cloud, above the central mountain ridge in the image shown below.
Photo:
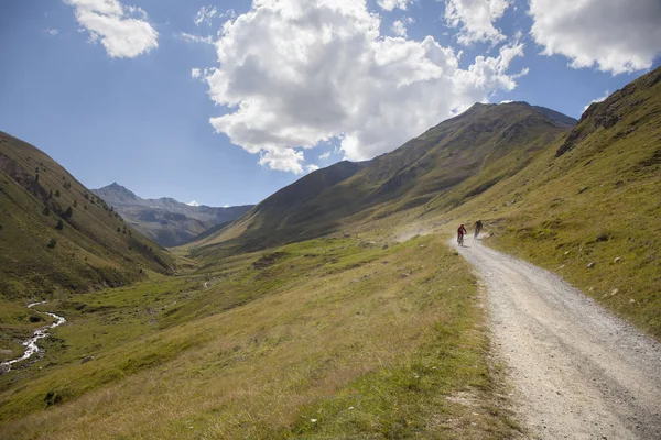
<path fill-rule="evenodd" d="M 516 87 L 522 44 L 463 69 L 460 52 L 384 37 L 380 24 L 355 0 L 257 0 L 215 43 L 218 67 L 203 76 L 228 111 L 209 122 L 260 164 L 303 173 L 303 148 L 339 139 L 347 158 L 371 158 Z"/>

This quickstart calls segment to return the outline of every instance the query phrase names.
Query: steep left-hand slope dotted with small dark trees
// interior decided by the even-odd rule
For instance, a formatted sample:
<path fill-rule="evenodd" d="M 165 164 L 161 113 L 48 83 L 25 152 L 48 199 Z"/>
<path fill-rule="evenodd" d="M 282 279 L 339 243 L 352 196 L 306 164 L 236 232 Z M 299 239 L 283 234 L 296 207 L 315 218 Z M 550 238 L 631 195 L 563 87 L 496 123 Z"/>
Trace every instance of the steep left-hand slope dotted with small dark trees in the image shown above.
<path fill-rule="evenodd" d="M 166 273 L 172 257 L 36 147 L 0 132 L 0 293 L 86 290 Z"/>

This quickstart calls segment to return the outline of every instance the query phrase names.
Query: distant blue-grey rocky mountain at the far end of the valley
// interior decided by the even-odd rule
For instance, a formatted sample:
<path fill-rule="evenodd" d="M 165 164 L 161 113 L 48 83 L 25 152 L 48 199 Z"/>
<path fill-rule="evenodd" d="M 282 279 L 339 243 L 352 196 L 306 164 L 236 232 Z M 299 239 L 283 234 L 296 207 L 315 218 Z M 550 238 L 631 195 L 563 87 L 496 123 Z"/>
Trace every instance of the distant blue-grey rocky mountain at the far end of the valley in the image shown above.
<path fill-rule="evenodd" d="M 129 224 L 164 246 L 184 244 L 252 208 L 252 205 L 229 208 L 186 205 L 167 197 L 143 199 L 117 183 L 93 191 L 115 207 Z"/>

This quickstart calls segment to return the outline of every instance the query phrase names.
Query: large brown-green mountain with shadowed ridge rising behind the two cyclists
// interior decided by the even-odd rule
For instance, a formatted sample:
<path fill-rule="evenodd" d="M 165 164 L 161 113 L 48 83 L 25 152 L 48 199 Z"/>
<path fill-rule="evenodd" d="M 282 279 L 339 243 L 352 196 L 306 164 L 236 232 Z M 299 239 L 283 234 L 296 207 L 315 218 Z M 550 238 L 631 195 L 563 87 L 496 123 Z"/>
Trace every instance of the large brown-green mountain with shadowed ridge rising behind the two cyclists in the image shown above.
<path fill-rule="evenodd" d="M 194 243 L 256 250 L 342 229 L 353 216 L 380 218 L 443 197 L 481 176 L 475 196 L 525 166 L 576 120 L 525 102 L 476 103 L 395 151 L 364 163 L 318 169 Z"/>

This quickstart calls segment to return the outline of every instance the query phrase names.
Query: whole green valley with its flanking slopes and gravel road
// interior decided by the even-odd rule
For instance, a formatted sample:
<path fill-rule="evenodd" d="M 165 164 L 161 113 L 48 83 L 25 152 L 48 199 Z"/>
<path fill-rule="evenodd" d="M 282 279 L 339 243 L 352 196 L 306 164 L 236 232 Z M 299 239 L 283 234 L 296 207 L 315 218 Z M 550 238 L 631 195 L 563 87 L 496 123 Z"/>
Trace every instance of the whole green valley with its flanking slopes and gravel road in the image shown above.
<path fill-rule="evenodd" d="M 3 135 L 2 360 L 28 304 L 66 323 L 0 375 L 1 437 L 653 438 L 660 144 L 661 68 L 579 121 L 478 103 L 165 249 Z"/>

